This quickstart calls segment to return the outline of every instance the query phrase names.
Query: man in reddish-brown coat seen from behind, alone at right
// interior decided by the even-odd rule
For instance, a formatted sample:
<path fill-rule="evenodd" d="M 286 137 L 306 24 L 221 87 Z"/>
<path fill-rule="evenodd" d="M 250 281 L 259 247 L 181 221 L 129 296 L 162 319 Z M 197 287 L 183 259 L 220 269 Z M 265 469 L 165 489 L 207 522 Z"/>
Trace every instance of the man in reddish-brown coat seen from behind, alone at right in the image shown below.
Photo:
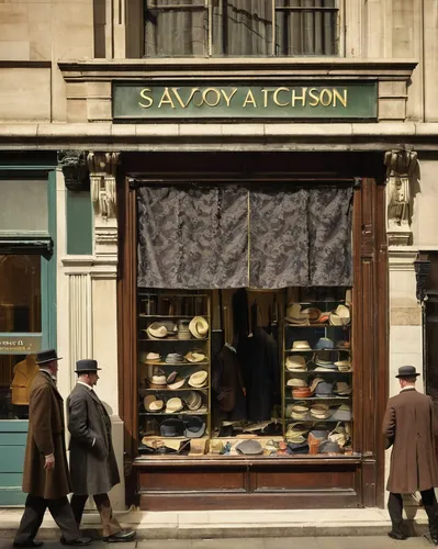
<path fill-rule="evenodd" d="M 398 368 L 400 394 L 389 400 L 383 434 L 393 446 L 386 489 L 393 539 L 406 539 L 402 531 L 402 494 L 420 492 L 429 519 L 433 542 L 438 546 L 438 505 L 434 486 L 438 486 L 435 436 L 438 434 L 431 400 L 415 390 L 419 373 L 413 366 Z"/>

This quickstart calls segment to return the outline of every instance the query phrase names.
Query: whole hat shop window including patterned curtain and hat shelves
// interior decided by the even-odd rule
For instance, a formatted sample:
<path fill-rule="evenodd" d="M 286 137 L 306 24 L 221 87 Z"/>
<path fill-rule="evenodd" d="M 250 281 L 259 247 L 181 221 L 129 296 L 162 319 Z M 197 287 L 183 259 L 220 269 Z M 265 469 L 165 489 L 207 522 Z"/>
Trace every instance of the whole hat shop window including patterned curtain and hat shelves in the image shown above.
<path fill-rule="evenodd" d="M 137 192 L 139 457 L 351 456 L 351 187 Z"/>

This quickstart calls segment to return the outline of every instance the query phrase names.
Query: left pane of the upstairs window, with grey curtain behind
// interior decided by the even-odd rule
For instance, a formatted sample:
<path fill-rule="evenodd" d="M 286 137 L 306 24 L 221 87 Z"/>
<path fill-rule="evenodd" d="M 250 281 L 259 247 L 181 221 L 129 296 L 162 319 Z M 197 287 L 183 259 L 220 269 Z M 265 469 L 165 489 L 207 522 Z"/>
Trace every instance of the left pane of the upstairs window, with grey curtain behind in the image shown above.
<path fill-rule="evenodd" d="M 146 2 L 145 52 L 148 57 L 205 56 L 207 11 L 200 0 Z"/>

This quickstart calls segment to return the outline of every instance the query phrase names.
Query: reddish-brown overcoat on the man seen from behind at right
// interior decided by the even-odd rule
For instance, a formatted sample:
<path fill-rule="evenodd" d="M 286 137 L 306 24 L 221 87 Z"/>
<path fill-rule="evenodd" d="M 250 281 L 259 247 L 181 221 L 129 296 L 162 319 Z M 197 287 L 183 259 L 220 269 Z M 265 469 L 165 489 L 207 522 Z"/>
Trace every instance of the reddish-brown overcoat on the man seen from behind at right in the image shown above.
<path fill-rule="evenodd" d="M 438 486 L 438 426 L 428 396 L 412 388 L 390 399 L 383 434 L 393 445 L 386 485 L 390 492 L 409 494 Z"/>

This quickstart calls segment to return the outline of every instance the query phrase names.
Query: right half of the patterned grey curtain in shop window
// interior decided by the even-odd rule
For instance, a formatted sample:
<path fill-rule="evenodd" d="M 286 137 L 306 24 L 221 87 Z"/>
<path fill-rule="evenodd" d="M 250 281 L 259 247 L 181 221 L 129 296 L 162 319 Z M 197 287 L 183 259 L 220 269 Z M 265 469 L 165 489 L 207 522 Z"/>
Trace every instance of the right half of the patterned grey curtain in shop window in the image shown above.
<path fill-rule="evenodd" d="M 351 285 L 352 188 L 250 192 L 250 287 Z"/>

